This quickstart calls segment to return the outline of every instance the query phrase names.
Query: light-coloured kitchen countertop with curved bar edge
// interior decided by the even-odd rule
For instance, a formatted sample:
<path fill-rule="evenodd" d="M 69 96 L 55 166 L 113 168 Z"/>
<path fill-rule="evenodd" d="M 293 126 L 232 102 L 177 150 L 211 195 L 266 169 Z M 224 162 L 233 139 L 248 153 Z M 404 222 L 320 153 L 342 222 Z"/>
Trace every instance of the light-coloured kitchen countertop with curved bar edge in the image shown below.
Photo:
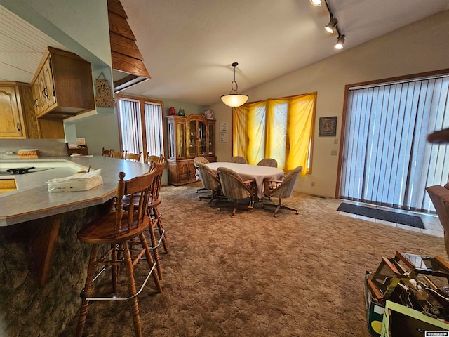
<path fill-rule="evenodd" d="M 0 164 L 9 160 L 0 160 Z M 53 166 L 58 161 L 76 164 L 74 167 L 102 169 L 103 184 L 88 191 L 53 192 L 47 190 L 51 178 L 70 176 L 67 169 L 49 169 L 23 175 L 14 175 L 18 190 L 0 194 L 0 227 L 14 225 L 29 220 L 54 216 L 85 207 L 103 204 L 116 194 L 119 172 L 126 174 L 128 180 L 148 171 L 148 165 L 122 159 L 93 157 L 46 157 L 39 159 L 18 159 L 20 166 L 29 167 L 39 162 L 42 166 Z M 5 176 L 3 176 L 5 177 Z M 11 176 L 12 177 L 12 176 Z"/>

